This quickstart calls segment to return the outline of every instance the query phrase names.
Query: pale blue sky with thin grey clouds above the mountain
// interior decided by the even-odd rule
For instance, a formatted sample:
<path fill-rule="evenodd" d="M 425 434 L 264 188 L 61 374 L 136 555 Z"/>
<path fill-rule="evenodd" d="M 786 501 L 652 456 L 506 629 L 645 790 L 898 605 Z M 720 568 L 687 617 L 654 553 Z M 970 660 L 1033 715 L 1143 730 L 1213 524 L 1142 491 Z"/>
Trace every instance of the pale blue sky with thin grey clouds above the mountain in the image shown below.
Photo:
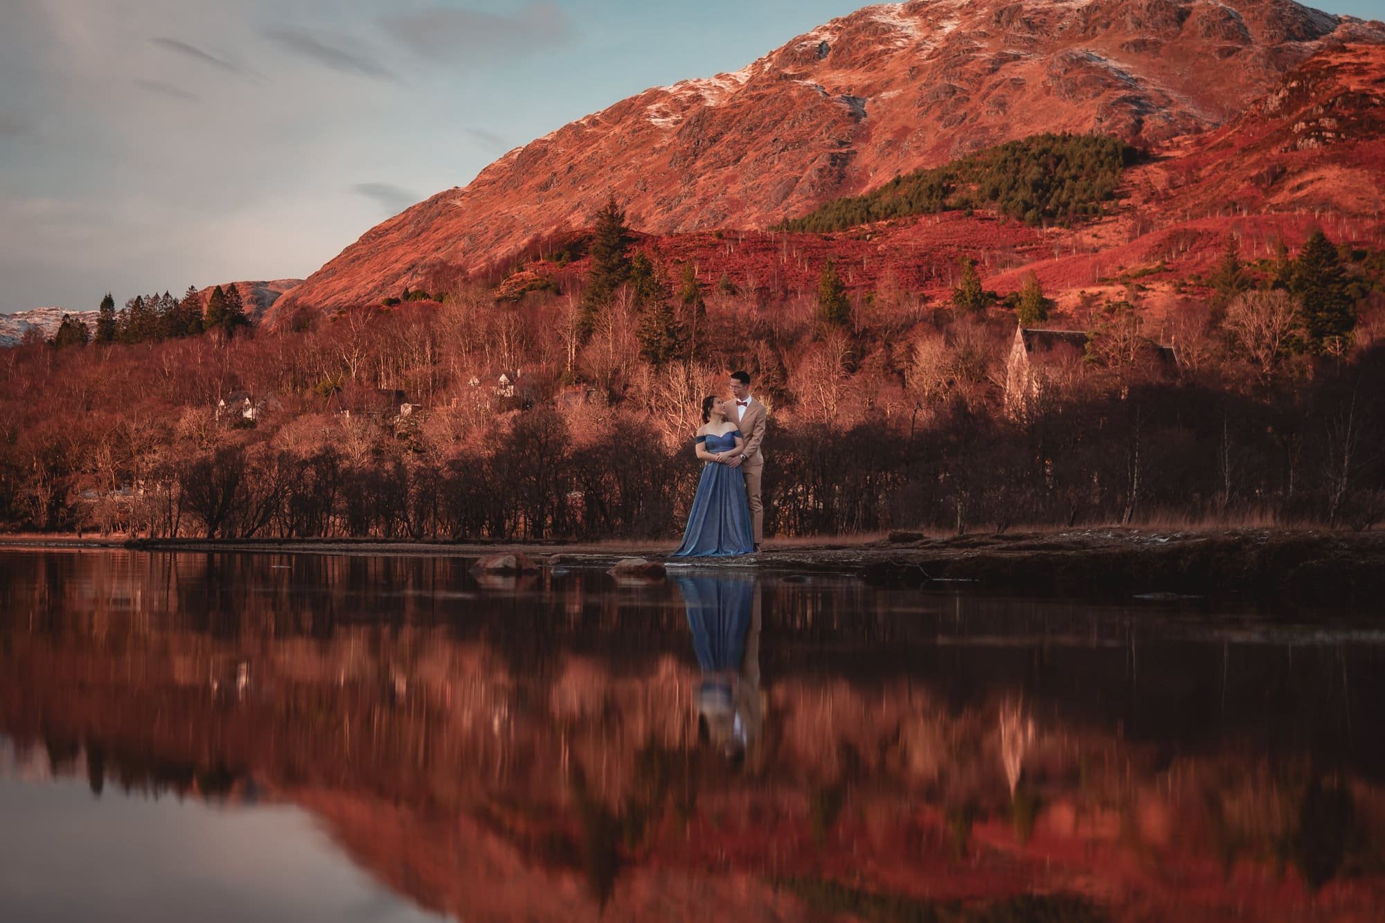
<path fill-rule="evenodd" d="M 0 0 L 0 312 L 306 277 L 512 147 L 860 6 Z"/>

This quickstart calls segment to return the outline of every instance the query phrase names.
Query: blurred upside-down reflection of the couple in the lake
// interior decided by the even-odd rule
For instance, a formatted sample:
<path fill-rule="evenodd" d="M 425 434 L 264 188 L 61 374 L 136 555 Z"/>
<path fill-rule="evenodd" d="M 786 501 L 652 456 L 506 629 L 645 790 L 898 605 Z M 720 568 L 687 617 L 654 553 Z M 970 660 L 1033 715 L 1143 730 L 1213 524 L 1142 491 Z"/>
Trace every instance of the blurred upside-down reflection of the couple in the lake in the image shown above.
<path fill-rule="evenodd" d="M 673 577 L 687 607 L 702 678 L 692 696 L 698 737 L 741 759 L 760 736 L 760 604 L 755 578 Z"/>

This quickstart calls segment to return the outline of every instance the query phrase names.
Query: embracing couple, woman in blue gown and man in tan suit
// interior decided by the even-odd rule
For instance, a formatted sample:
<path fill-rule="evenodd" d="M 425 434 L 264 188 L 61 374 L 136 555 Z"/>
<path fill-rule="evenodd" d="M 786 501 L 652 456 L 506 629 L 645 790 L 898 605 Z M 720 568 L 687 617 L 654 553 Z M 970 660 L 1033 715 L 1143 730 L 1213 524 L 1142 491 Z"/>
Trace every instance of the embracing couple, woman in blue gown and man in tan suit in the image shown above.
<path fill-rule="evenodd" d="M 765 535 L 760 475 L 765 473 L 765 405 L 751 396 L 751 376 L 733 371 L 731 398 L 702 401 L 702 425 L 692 439 L 704 461 L 702 480 L 683 545 L 673 557 L 753 554 Z"/>

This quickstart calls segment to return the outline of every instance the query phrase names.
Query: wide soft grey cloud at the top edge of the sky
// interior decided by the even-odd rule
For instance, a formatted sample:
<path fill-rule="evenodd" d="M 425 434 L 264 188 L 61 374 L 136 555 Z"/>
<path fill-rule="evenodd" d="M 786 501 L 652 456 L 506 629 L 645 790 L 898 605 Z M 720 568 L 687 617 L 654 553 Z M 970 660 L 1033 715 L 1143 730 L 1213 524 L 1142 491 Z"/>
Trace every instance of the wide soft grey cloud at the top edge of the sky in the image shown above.
<path fill-rule="evenodd" d="M 550 0 L 528 3 L 511 14 L 431 7 L 384 17 L 381 25 L 418 54 L 456 62 L 553 47 L 573 35 L 568 14 Z"/>

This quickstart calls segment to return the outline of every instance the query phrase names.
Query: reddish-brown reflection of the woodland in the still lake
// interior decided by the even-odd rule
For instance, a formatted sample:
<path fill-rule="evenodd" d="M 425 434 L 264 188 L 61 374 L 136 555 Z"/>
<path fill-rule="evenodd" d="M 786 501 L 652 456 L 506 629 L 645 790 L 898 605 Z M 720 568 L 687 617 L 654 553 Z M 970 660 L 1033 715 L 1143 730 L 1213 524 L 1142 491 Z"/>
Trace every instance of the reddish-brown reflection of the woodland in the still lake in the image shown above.
<path fill-rule="evenodd" d="M 1220 646 L 1141 642 L 1132 671 L 1118 629 L 1079 613 L 1054 614 L 1046 639 L 1080 629 L 1090 646 L 1022 646 L 1022 607 L 939 611 L 920 597 L 922 611 L 902 617 L 868 588 L 843 603 L 771 582 L 756 658 L 769 680 L 755 680 L 767 719 L 737 769 L 697 744 L 691 690 L 704 671 L 672 585 L 611 592 L 602 578 L 546 575 L 517 596 L 452 564 L 314 559 L 266 575 L 245 568 L 249 556 L 213 557 L 170 556 L 155 571 L 163 589 L 119 604 L 83 597 L 78 572 L 44 578 L 42 592 L 76 614 L 7 631 L 0 728 L 42 740 L 65 772 L 82 772 L 84 754 L 93 790 L 215 793 L 255 777 L 371 811 L 472 818 L 526 862 L 582 876 L 598 901 L 618 901 L 632 868 L 692 868 L 713 848 L 765 874 L 859 854 L 927 881 L 929 863 L 951 869 L 953 851 L 958 868 L 997 852 L 1024 868 L 1021 844 L 1080 843 L 1086 874 L 1119 874 L 1101 863 L 1130 850 L 1170 893 L 1201 880 L 1204 859 L 1219 880 L 1246 862 L 1314 886 L 1382 874 L 1385 795 L 1360 775 L 1377 744 L 1357 741 L 1352 772 L 1294 762 L 1334 740 L 1324 712 L 1342 686 L 1316 685 L 1335 654 L 1299 649 L 1285 679 L 1271 647 L 1227 658 Z M 199 581 L 217 606 L 241 608 L 217 610 L 219 624 L 179 614 L 173 600 L 197 606 Z M 136 599 L 144 617 L 130 617 Z M 828 643 L 852 638 L 855 606 L 889 644 Z M 389 615 L 370 618 L 371 607 Z M 945 632 L 957 643 L 918 640 Z M 974 643 L 997 638 L 1008 646 Z M 234 685 L 242 661 L 244 696 L 212 694 L 211 679 Z M 1288 718 L 1262 726 L 1256 697 L 1271 674 Z M 1370 696 L 1378 680 L 1361 674 L 1353 694 Z M 1180 723 L 1176 708 L 1199 698 Z M 1310 719 L 1328 728 L 1310 732 Z M 350 816 L 334 820 L 342 836 Z M 373 868 L 388 858 L 360 855 Z M 1165 861 L 1176 874 L 1161 877 Z"/>

